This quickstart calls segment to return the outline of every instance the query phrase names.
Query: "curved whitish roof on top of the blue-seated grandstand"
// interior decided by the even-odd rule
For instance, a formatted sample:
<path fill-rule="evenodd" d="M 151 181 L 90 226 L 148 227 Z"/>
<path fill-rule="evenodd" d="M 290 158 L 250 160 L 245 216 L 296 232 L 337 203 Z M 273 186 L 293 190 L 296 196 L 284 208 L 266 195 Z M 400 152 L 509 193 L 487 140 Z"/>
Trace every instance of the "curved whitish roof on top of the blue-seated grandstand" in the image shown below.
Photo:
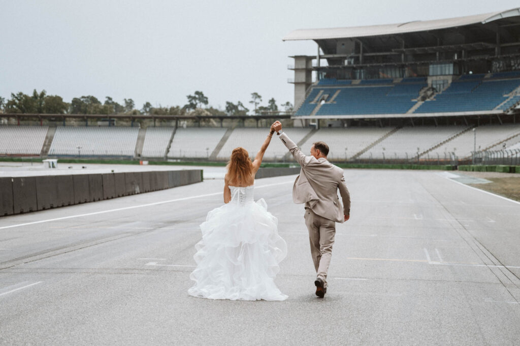
<path fill-rule="evenodd" d="M 482 15 L 436 19 L 427 21 L 411 21 L 407 23 L 369 25 L 365 27 L 330 28 L 330 29 L 298 29 L 283 37 L 283 41 L 328 40 L 393 35 L 410 32 L 462 27 L 471 24 L 486 24 L 498 19 L 520 17 L 520 8 L 491 12 Z"/>

